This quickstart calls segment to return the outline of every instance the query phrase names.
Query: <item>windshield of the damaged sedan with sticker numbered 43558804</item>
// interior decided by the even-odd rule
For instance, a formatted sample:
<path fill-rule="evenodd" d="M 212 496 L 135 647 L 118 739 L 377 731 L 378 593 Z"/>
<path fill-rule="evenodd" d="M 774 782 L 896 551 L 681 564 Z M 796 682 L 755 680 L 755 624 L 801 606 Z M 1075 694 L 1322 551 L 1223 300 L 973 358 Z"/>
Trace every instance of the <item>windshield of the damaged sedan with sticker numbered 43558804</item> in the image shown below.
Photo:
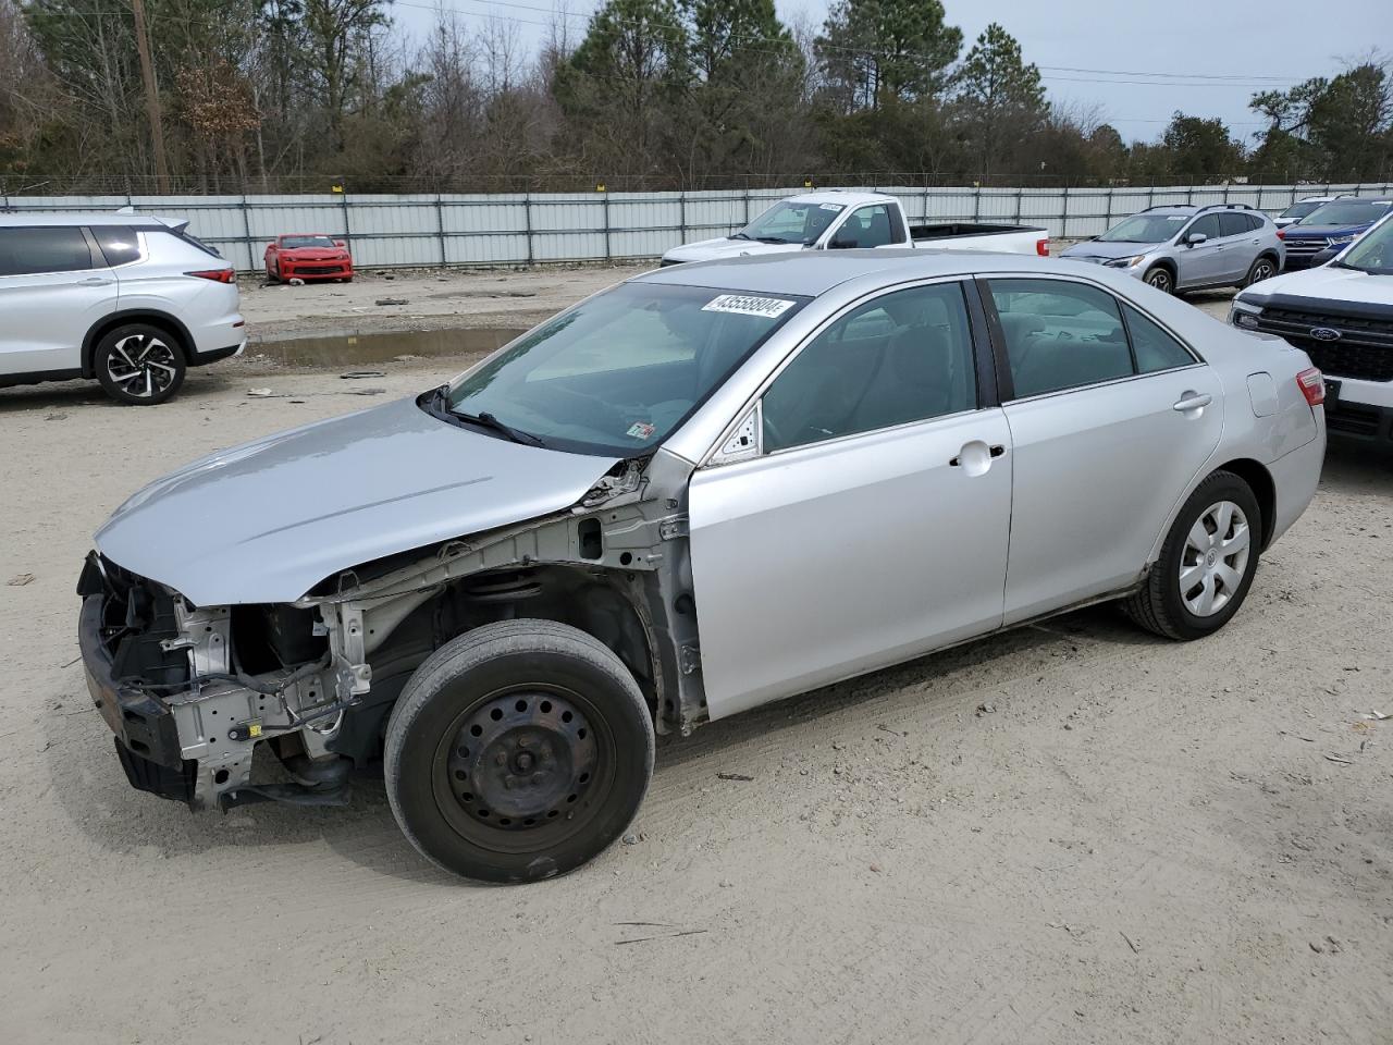
<path fill-rule="evenodd" d="M 482 418 L 481 428 L 511 429 L 520 442 L 632 457 L 666 439 L 807 302 L 624 283 L 458 378 L 439 411 Z"/>

